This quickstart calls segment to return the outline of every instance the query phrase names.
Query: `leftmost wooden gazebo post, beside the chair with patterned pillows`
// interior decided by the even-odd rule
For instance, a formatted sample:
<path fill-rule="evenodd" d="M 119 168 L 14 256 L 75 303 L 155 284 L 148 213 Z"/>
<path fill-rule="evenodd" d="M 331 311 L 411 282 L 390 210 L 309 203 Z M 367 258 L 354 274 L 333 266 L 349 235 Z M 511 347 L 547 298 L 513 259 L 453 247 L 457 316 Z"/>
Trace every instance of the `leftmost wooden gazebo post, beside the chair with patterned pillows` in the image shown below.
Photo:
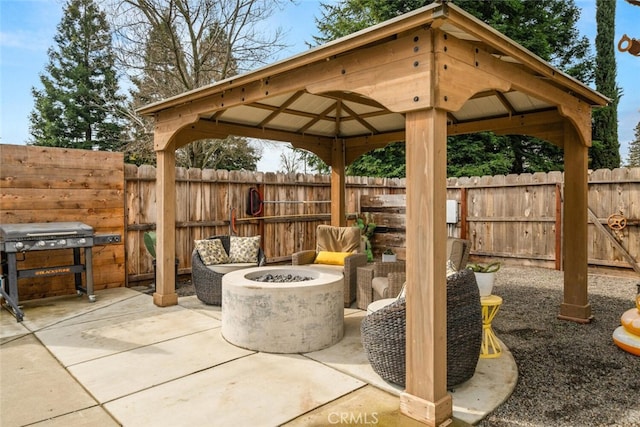
<path fill-rule="evenodd" d="M 175 150 L 165 147 L 157 151 L 157 247 L 156 291 L 153 303 L 160 307 L 176 305 L 178 294 L 175 284 L 176 259 L 176 157 Z"/>

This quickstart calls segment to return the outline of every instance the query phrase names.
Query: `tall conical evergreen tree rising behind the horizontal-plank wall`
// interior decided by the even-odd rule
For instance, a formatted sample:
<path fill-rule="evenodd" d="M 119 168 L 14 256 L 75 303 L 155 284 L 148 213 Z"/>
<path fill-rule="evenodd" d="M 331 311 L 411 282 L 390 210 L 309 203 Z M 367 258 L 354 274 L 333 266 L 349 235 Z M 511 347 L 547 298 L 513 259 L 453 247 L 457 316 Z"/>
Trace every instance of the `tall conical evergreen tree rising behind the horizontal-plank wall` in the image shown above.
<path fill-rule="evenodd" d="M 54 41 L 43 89 L 32 88 L 30 143 L 119 150 L 122 97 L 104 13 L 93 0 L 69 0 Z"/>

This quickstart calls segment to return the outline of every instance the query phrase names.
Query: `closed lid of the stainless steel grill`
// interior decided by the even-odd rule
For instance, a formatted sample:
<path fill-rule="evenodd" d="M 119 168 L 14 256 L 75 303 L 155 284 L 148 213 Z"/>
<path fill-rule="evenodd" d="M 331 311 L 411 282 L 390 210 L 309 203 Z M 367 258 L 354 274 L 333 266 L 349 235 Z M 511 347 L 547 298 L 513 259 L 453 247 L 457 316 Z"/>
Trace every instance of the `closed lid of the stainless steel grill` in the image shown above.
<path fill-rule="evenodd" d="M 46 237 L 89 237 L 93 227 L 82 222 L 34 222 L 0 224 L 0 241 L 42 239 Z"/>

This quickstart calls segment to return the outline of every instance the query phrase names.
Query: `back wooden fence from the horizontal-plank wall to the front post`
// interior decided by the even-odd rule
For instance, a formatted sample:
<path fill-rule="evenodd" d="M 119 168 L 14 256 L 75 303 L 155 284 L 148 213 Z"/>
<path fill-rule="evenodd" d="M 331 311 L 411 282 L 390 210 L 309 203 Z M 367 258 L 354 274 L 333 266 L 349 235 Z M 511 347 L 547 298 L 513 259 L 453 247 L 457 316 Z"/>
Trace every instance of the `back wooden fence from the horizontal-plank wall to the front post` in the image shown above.
<path fill-rule="evenodd" d="M 126 245 L 130 281 L 153 277 L 153 260 L 144 247 L 145 231 L 155 229 L 155 168 L 125 167 Z M 264 200 L 259 217 L 247 214 L 250 188 Z M 359 212 L 360 195 L 404 193 L 404 180 L 349 177 L 346 211 Z M 275 174 L 210 169 L 176 170 L 176 257 L 180 274 L 190 272 L 193 241 L 228 234 L 235 222 L 240 236 L 262 235 L 268 262 L 290 260 L 293 252 L 315 247 L 315 229 L 331 219 L 327 175 Z"/>

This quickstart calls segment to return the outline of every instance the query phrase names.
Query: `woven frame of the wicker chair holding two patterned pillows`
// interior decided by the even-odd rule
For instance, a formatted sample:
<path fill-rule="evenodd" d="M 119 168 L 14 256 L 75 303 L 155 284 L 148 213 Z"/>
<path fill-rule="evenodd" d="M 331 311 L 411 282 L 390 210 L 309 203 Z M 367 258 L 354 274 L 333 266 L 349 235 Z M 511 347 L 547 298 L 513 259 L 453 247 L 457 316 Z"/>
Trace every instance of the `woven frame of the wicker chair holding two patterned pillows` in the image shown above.
<path fill-rule="evenodd" d="M 207 239 L 220 239 L 225 251 L 229 253 L 231 238 L 229 236 L 213 236 Z M 256 264 L 252 266 L 263 266 L 267 259 L 262 248 L 258 251 Z M 200 301 L 209 305 L 222 304 L 222 276 L 224 273 L 213 271 L 204 263 L 196 249 L 191 253 L 191 282 L 195 288 L 196 295 Z"/>

